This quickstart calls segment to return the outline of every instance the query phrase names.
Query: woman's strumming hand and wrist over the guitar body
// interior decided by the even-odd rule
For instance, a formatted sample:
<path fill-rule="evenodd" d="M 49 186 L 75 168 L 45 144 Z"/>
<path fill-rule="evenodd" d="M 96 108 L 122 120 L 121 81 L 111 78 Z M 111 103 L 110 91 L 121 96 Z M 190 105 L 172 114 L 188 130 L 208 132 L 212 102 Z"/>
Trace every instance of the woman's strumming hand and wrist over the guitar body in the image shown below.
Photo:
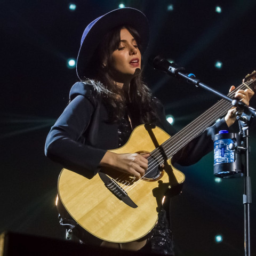
<path fill-rule="evenodd" d="M 148 168 L 147 158 L 149 156 L 150 154 L 116 154 L 107 151 L 100 161 L 100 166 L 112 167 L 119 172 L 131 174 L 140 179 Z"/>

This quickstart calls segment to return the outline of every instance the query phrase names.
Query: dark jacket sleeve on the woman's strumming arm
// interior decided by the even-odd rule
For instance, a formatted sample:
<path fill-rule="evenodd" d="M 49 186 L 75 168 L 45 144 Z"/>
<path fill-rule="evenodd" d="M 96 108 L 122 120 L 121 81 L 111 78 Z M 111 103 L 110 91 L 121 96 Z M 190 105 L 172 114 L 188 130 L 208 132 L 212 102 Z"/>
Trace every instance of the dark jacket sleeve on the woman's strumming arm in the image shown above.
<path fill-rule="evenodd" d="M 45 155 L 65 168 L 92 178 L 106 150 L 79 142 L 93 115 L 94 106 L 83 95 L 75 97 L 51 128 L 45 144 Z"/>

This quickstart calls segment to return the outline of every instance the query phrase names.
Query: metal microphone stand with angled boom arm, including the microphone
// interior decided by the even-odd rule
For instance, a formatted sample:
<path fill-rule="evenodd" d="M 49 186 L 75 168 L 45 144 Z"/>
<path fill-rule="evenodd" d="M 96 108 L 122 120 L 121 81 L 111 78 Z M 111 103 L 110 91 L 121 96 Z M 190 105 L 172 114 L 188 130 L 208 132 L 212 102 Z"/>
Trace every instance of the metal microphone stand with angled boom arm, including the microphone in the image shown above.
<path fill-rule="evenodd" d="M 242 125 L 244 146 L 242 151 L 245 152 L 245 170 L 244 170 L 244 194 L 243 194 L 243 204 L 244 204 L 244 252 L 245 256 L 251 256 L 250 251 L 250 204 L 252 203 L 252 189 L 251 189 L 251 178 L 249 176 L 249 126 L 252 118 L 256 116 L 256 110 L 252 107 L 245 105 L 242 101 L 234 100 L 222 94 L 210 86 L 202 83 L 199 79 L 195 77 L 194 74 L 185 73 L 185 68 L 175 67 L 171 63 L 161 57 L 151 57 L 149 63 L 153 65 L 154 68 L 160 69 L 166 72 L 170 76 L 181 77 L 187 82 L 194 84 L 195 86 L 200 86 L 203 89 L 213 92 L 222 99 L 225 99 L 232 103 L 233 106 L 238 108 L 236 112 L 237 119 Z M 175 64 L 174 64 L 175 65 Z"/>

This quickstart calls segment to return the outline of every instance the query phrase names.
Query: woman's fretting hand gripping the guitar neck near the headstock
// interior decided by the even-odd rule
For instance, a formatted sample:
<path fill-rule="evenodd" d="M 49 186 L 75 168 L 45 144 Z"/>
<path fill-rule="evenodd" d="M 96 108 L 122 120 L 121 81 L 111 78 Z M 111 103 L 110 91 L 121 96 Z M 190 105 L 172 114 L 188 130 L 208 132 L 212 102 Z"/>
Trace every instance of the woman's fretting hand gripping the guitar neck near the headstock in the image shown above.
<path fill-rule="evenodd" d="M 233 91 L 234 89 L 235 89 L 235 86 L 233 85 L 230 87 L 229 92 Z M 247 106 L 249 106 L 249 101 L 253 97 L 253 95 L 254 95 L 254 92 L 251 89 L 246 89 L 246 90 L 237 90 L 234 97 L 237 99 L 240 99 L 240 101 L 244 102 Z M 228 110 L 228 113 L 225 116 L 225 121 L 228 127 L 230 127 L 235 123 L 236 111 L 237 111 L 236 107 L 233 107 Z"/>

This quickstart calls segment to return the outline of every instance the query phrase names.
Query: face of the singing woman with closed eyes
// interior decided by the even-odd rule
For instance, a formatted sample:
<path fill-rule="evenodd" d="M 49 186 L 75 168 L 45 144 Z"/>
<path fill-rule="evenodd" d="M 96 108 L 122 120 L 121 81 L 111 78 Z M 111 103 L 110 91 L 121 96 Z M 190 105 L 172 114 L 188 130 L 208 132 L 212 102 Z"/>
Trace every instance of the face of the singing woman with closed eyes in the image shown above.
<path fill-rule="evenodd" d="M 112 53 L 112 67 L 116 82 L 126 82 L 141 68 L 141 54 L 137 42 L 126 28 L 120 31 L 120 44 Z"/>

